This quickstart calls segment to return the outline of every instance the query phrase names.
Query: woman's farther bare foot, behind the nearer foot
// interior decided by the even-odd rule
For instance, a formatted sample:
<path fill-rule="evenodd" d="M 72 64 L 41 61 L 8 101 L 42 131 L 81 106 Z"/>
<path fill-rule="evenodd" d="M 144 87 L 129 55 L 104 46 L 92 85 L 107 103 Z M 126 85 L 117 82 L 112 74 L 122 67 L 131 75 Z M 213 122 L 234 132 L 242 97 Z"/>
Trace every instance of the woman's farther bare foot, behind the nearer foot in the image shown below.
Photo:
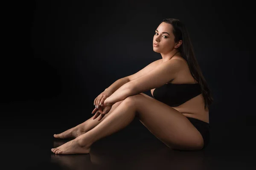
<path fill-rule="evenodd" d="M 83 130 L 82 125 L 78 125 L 62 133 L 54 134 L 53 136 L 58 139 L 75 139 L 84 133 L 86 133 L 86 131 Z"/>

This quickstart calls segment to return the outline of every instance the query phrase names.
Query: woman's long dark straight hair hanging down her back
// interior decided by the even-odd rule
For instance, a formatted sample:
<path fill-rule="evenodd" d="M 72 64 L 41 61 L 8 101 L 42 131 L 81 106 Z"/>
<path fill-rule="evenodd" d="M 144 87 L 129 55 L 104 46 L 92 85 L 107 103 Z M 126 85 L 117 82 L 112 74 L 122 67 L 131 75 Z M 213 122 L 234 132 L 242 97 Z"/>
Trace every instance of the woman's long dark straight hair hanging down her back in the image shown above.
<path fill-rule="evenodd" d="M 186 59 L 190 73 L 200 84 L 201 92 L 204 97 L 204 109 L 209 111 L 209 106 L 213 102 L 212 94 L 195 58 L 193 45 L 186 26 L 180 20 L 174 18 L 164 19 L 161 23 L 163 22 L 172 24 L 172 33 L 175 36 L 175 42 L 182 40 L 182 44 L 177 49 L 180 51 L 181 56 Z"/>

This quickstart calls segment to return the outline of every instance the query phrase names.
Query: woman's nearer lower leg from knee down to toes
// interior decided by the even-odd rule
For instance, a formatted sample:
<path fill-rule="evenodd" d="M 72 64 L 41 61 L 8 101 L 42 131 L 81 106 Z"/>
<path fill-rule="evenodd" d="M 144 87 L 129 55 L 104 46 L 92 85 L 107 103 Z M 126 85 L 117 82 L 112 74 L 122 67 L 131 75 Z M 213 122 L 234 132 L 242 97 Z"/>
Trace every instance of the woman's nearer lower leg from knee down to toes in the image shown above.
<path fill-rule="evenodd" d="M 128 102 L 122 102 L 111 115 L 106 117 L 92 130 L 89 130 L 87 133 L 82 134 L 60 147 L 53 148 L 52 152 L 56 154 L 89 153 L 91 144 L 123 129 L 134 120 L 136 108 L 134 103 L 129 100 L 127 101 Z"/>

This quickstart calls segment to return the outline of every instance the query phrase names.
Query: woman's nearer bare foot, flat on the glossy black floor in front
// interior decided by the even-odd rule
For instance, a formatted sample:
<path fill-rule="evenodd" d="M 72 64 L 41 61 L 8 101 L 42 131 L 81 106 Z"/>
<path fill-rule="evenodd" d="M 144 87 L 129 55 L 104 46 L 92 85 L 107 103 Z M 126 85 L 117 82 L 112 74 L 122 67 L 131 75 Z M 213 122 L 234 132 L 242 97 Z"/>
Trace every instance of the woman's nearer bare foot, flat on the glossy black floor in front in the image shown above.
<path fill-rule="evenodd" d="M 51 149 L 55 154 L 83 154 L 90 152 L 90 145 L 81 145 L 78 139 L 73 139 L 59 147 Z"/>

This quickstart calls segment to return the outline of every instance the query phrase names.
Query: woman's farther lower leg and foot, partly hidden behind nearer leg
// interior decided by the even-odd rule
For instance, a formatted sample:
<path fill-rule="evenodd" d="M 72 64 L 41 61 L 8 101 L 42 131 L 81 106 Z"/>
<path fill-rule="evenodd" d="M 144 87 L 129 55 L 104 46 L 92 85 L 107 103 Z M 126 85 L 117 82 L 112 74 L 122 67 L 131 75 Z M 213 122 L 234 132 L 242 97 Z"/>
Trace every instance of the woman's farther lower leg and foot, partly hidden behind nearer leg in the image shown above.
<path fill-rule="evenodd" d="M 122 100 L 123 101 L 123 100 Z M 94 127 L 96 127 L 97 125 L 99 125 L 100 122 L 102 122 L 107 116 L 109 116 L 113 110 L 115 110 L 115 108 L 117 108 L 117 106 L 120 105 L 120 103 L 122 103 L 122 101 L 119 101 L 119 102 L 116 102 L 111 110 L 108 112 L 108 114 L 106 114 L 100 121 L 98 121 L 97 119 L 94 119 L 93 120 L 93 116 L 86 120 L 85 122 L 69 129 L 69 130 L 66 130 L 62 133 L 59 133 L 59 134 L 54 134 L 53 136 L 55 138 L 59 138 L 59 139 L 75 139 L 76 137 L 86 133 L 87 131 L 93 129 Z"/>

